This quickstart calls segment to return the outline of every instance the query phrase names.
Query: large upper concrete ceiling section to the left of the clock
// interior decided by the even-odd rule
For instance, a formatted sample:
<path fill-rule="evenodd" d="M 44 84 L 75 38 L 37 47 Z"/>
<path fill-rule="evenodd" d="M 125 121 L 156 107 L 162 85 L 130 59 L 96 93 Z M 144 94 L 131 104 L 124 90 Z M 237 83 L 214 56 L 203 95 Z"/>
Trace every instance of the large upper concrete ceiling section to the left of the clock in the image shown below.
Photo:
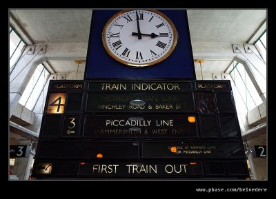
<path fill-rule="evenodd" d="M 33 43 L 88 42 L 92 10 L 10 10 Z"/>

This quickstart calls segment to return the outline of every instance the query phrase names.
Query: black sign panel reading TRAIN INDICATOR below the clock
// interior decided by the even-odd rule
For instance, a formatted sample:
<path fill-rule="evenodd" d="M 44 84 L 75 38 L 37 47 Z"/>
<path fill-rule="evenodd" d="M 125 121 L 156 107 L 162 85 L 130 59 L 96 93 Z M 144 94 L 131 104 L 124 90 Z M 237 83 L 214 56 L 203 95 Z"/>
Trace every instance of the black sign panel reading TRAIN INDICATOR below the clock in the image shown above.
<path fill-rule="evenodd" d="M 187 82 L 89 82 L 89 91 L 100 92 L 181 92 L 192 90 L 192 83 Z"/>

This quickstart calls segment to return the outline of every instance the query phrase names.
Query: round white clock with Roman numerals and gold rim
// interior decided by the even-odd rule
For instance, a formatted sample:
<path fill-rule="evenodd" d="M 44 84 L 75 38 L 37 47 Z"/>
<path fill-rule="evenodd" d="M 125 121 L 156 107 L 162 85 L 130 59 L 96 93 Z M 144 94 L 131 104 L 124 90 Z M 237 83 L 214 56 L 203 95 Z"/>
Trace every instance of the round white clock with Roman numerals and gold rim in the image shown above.
<path fill-rule="evenodd" d="M 103 28 L 103 46 L 126 65 L 145 67 L 164 61 L 177 45 L 177 30 L 156 10 L 125 10 Z"/>

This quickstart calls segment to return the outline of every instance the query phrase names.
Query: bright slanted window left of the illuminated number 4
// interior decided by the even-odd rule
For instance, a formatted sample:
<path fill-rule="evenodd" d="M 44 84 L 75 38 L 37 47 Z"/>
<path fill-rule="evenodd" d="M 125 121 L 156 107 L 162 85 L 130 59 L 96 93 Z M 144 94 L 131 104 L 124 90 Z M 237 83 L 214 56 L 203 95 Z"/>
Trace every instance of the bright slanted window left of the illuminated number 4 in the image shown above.
<path fill-rule="evenodd" d="M 34 71 L 34 74 L 32 74 L 32 77 L 30 78 L 19 103 L 32 110 L 34 105 L 37 103 L 37 99 L 39 98 L 44 85 L 48 81 L 49 76 L 50 73 L 46 70 L 44 65 L 39 64 L 37 69 Z"/>

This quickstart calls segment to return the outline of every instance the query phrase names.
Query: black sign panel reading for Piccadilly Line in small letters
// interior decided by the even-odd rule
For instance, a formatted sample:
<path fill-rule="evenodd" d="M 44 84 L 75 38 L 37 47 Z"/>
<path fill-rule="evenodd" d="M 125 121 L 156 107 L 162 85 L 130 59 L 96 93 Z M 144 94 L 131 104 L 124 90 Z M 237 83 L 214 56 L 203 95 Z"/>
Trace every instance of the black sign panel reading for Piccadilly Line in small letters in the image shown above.
<path fill-rule="evenodd" d="M 143 158 L 242 158 L 239 141 L 142 142 Z"/>

